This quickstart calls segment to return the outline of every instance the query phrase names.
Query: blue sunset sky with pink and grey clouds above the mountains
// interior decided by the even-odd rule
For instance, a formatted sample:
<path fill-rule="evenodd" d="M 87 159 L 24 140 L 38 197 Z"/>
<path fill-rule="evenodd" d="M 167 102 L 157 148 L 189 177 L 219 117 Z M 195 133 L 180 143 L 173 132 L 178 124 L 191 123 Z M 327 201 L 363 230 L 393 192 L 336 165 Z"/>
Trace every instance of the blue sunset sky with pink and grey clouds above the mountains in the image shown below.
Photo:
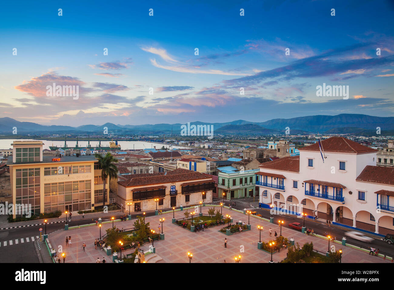
<path fill-rule="evenodd" d="M 4 2 L 0 117 L 78 126 L 394 116 L 393 3 Z M 48 95 L 53 83 L 78 86 L 78 97 Z M 348 99 L 318 96 L 323 84 L 345 86 Z"/>

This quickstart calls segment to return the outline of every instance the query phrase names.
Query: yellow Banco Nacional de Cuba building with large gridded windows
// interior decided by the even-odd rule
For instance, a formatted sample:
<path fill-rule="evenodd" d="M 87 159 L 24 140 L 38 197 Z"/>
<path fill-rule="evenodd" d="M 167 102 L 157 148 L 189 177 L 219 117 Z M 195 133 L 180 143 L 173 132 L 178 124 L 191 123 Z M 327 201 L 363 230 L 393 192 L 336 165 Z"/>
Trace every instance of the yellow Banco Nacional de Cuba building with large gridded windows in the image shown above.
<path fill-rule="evenodd" d="M 102 206 L 101 170 L 94 155 L 45 156 L 41 141 L 14 141 L 11 145 L 13 155 L 7 165 L 14 205 L 29 205 L 35 215 Z M 108 188 L 107 179 L 106 204 Z"/>

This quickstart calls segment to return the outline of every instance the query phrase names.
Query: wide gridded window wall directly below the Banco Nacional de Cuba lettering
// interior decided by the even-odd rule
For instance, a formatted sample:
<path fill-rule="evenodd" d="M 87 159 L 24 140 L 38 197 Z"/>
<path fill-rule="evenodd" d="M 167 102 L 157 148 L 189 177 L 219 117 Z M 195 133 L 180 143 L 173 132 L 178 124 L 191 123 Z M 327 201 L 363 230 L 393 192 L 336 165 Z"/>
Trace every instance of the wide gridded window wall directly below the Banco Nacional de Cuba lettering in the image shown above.
<path fill-rule="evenodd" d="M 91 210 L 91 181 L 67 181 L 44 184 L 44 211 Z"/>

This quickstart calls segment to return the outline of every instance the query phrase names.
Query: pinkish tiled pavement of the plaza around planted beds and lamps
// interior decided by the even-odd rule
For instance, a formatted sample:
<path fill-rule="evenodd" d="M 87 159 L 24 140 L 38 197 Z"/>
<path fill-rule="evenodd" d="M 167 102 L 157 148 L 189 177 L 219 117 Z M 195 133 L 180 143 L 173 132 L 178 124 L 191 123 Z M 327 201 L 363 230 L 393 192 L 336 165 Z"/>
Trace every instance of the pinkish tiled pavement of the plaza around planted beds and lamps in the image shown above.
<path fill-rule="evenodd" d="M 208 208 L 210 207 L 212 206 L 203 207 L 203 213 L 207 214 Z M 220 210 L 220 207 L 216 207 L 216 209 Z M 183 218 L 183 213 L 184 211 L 175 211 L 175 218 Z M 236 210 L 223 208 L 223 215 L 225 216 L 226 214 L 230 214 L 233 217 L 233 223 L 236 223 L 240 219 L 245 223 L 248 221 L 247 215 Z M 242 256 L 241 263 L 267 263 L 271 259 L 271 253 L 266 253 L 257 249 L 257 242 L 259 239 L 257 225 L 262 225 L 264 227 L 264 230 L 261 233 L 261 240 L 264 242 L 267 242 L 270 239 L 275 239 L 275 231 L 278 235 L 280 234 L 280 227 L 277 224 L 271 224 L 268 221 L 262 220 L 253 215 L 250 216 L 250 223 L 252 225 L 251 230 L 232 234 L 231 236 L 226 236 L 225 234 L 218 232 L 221 226 L 204 229 L 204 232 L 190 232 L 171 223 L 171 218 L 173 217 L 172 211 L 164 213 L 163 215 L 145 217 L 145 221 L 150 222 L 151 228 L 158 232 L 159 218 L 162 217 L 165 218 L 163 228 L 165 239 L 154 242 L 156 254 L 163 259 L 159 263 L 188 263 L 188 251 L 193 253 L 192 263 L 223 263 L 225 261 L 227 263 L 232 263 L 234 262 L 234 256 L 238 256 L 239 254 Z M 198 218 L 198 213 L 195 218 L 196 217 Z M 277 218 L 274 218 L 274 221 L 279 218 L 286 220 L 286 216 L 277 216 Z M 134 226 L 134 221 L 135 219 L 124 222 L 118 221 L 115 222 L 115 226 L 118 228 L 131 228 Z M 105 230 L 111 227 L 111 222 L 103 223 L 101 234 L 104 235 L 106 233 Z M 273 232 L 272 237 L 269 237 L 270 227 Z M 72 237 L 72 245 L 67 248 L 65 246 L 66 236 Z M 304 243 L 312 241 L 314 249 L 322 252 L 326 252 L 328 249 L 327 238 L 307 236 L 299 231 L 288 228 L 286 222 L 284 223 L 284 226 L 282 226 L 282 236 L 288 239 L 294 238 L 295 243 L 298 242 L 300 247 L 302 247 Z M 55 249 L 58 249 L 59 245 L 63 247 L 63 251 L 67 254 L 66 263 L 94 263 L 97 258 L 102 259 L 103 256 L 106 257 L 107 262 L 112 262 L 112 256 L 107 256 L 104 251 L 95 249 L 95 238 L 99 238 L 99 227 L 95 225 L 75 228 L 68 231 L 58 230 L 49 235 L 50 243 Z M 227 248 L 224 247 L 225 238 L 227 238 Z M 82 249 L 82 243 L 84 242 L 87 245 L 85 252 Z M 330 242 L 330 245 L 332 244 L 333 243 Z M 149 245 L 149 243 L 146 243 L 143 245 L 142 249 L 147 250 Z M 348 246 L 342 246 L 341 243 L 335 243 L 335 247 L 336 250 L 342 249 L 342 263 L 392 262 L 391 258 L 383 259 L 379 256 L 368 255 L 368 252 L 353 249 Z M 132 250 L 126 250 L 123 253 L 131 253 L 131 251 Z M 286 254 L 287 249 L 282 249 L 279 253 L 274 253 L 273 261 L 280 262 L 286 257 Z"/>

